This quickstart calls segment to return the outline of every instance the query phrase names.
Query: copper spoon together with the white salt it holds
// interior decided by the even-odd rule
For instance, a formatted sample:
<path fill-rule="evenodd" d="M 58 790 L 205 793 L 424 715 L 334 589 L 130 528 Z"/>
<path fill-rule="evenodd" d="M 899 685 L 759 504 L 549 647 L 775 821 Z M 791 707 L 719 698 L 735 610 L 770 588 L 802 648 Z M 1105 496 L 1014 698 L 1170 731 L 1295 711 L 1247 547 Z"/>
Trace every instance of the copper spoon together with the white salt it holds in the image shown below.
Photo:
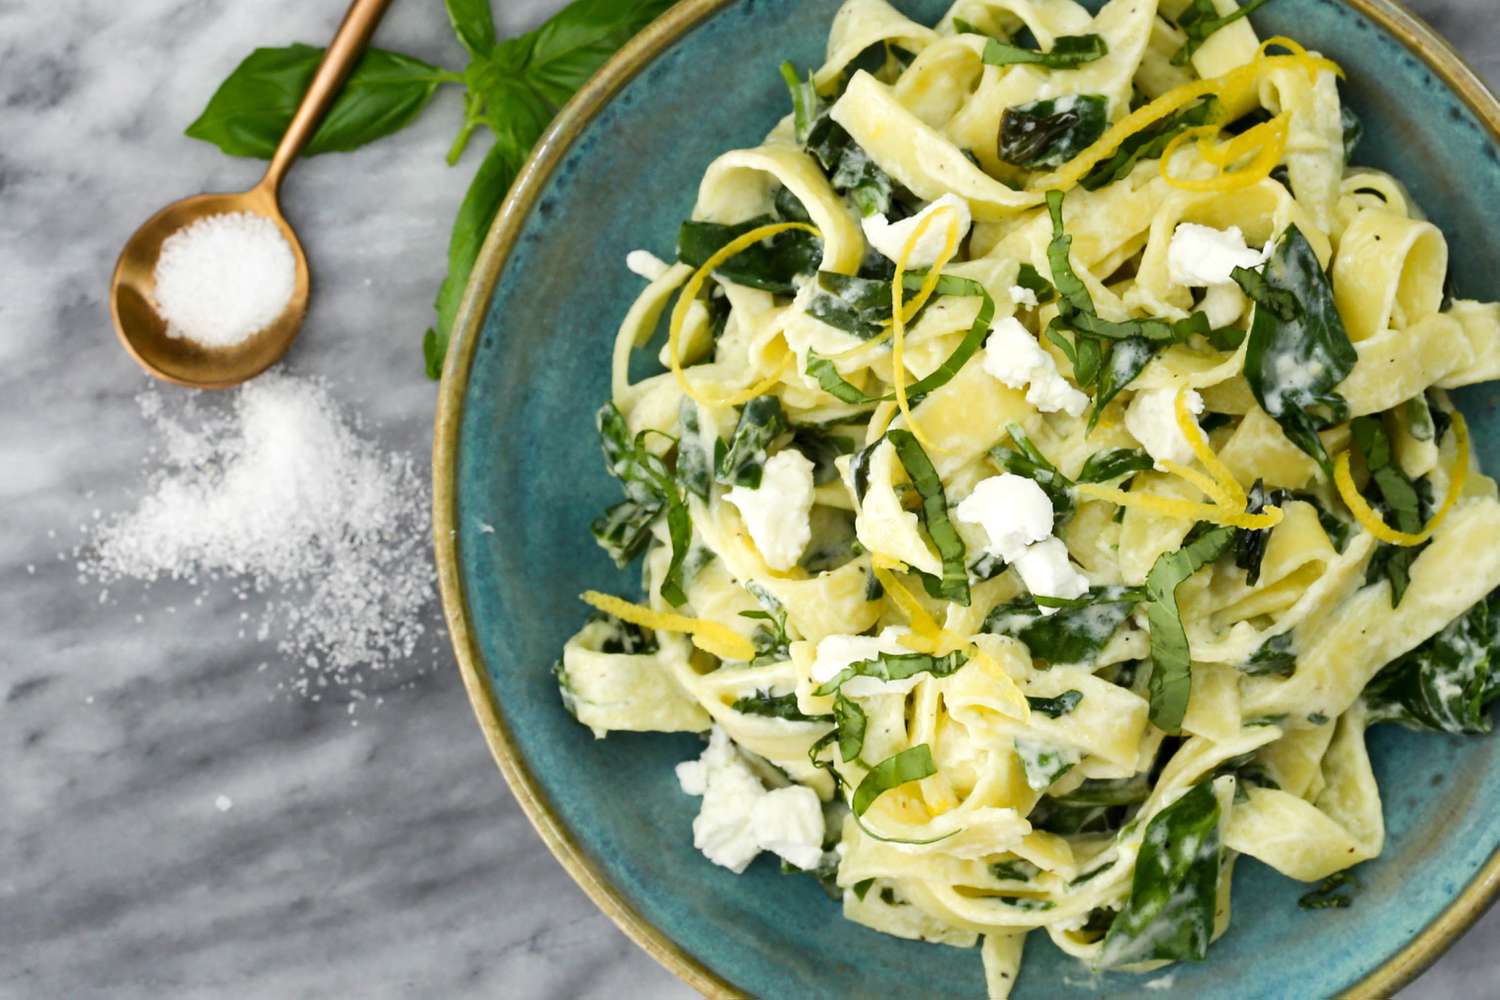
<path fill-rule="evenodd" d="M 308 258 L 282 216 L 276 195 L 286 169 L 312 138 L 344 79 L 369 45 L 387 6 L 390 0 L 354 0 L 350 4 L 266 175 L 255 187 L 236 195 L 195 195 L 174 201 L 147 219 L 124 244 L 110 282 L 110 315 L 124 349 L 150 375 L 192 388 L 228 388 L 255 378 L 286 354 L 308 312 L 309 279 Z M 290 274 L 270 226 L 291 255 Z M 244 247 L 254 259 L 237 268 L 225 259 L 234 247 Z M 156 283 L 159 274 L 164 280 L 160 289 Z M 204 289 L 207 301 L 222 303 L 230 310 L 226 316 L 213 316 L 206 315 L 201 303 L 196 309 L 192 303 L 192 282 L 213 276 L 250 279 L 262 285 Z M 159 291 L 162 295 L 158 295 Z M 279 313 L 266 321 L 261 315 L 266 301 L 282 298 L 285 304 Z M 170 324 L 162 312 L 177 322 Z M 262 321 L 264 325 L 252 328 Z"/>

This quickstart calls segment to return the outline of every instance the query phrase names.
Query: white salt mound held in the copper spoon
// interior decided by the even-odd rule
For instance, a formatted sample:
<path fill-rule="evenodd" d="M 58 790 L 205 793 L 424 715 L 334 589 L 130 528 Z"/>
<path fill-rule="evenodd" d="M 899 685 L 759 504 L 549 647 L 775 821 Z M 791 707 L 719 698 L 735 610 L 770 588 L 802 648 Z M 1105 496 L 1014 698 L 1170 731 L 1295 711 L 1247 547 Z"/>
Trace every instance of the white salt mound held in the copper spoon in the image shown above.
<path fill-rule="evenodd" d="M 230 348 L 282 315 L 297 285 L 297 259 L 266 216 L 225 213 L 166 237 L 154 280 L 168 336 Z"/>

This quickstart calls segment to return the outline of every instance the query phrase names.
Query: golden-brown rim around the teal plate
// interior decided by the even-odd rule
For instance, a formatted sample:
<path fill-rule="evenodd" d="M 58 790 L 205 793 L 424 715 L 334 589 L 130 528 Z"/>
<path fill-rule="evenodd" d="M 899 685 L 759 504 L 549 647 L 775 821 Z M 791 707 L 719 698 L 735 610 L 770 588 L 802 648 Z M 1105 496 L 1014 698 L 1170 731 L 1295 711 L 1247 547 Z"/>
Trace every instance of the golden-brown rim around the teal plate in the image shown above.
<path fill-rule="evenodd" d="M 1368 16 L 1452 90 L 1500 142 L 1500 99 L 1479 73 L 1430 24 L 1398 0 L 1336 0 Z M 648 955 L 706 997 L 744 997 L 738 987 L 708 969 L 696 955 L 674 942 L 636 910 L 609 882 L 554 811 L 536 777 L 512 739 L 496 708 L 490 672 L 471 625 L 468 585 L 458 553 L 459 442 L 464 403 L 468 394 L 476 348 L 490 300 L 520 231 L 536 208 L 552 172 L 567 156 L 584 129 L 657 55 L 738 0 L 680 0 L 670 10 L 621 48 L 558 112 L 537 141 L 474 262 L 454 319 L 454 337 L 442 367 L 432 439 L 432 534 L 438 565 L 438 589 L 453 654 L 470 705 L 506 783 L 522 811 L 562 868 Z M 1431 966 L 1500 895 L 1500 844 L 1468 885 L 1454 897 L 1431 924 L 1401 951 L 1388 957 L 1344 997 L 1389 997 Z"/>

